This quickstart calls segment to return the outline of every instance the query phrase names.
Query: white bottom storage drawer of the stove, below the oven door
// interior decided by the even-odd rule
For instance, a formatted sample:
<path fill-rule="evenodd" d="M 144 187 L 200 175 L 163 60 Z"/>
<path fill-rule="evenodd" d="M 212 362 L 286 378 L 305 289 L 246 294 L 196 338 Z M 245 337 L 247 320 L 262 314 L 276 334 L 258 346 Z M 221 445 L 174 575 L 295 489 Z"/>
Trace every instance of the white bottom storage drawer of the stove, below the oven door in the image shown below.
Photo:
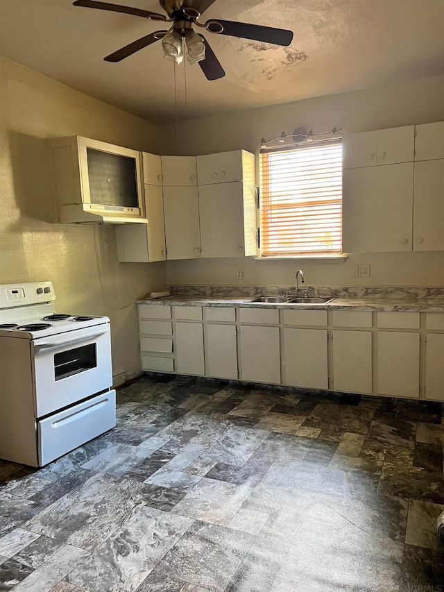
<path fill-rule="evenodd" d="M 116 391 L 108 391 L 37 421 L 39 466 L 116 425 Z"/>

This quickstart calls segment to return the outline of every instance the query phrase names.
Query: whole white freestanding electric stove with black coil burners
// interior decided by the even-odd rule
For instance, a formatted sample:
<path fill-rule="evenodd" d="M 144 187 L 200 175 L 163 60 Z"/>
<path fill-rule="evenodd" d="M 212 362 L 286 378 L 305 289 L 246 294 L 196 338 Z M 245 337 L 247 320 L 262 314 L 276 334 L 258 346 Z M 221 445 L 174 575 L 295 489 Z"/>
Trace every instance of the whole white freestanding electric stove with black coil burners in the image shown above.
<path fill-rule="evenodd" d="M 54 300 L 51 282 L 0 285 L 0 458 L 31 466 L 116 424 L 110 320 Z"/>

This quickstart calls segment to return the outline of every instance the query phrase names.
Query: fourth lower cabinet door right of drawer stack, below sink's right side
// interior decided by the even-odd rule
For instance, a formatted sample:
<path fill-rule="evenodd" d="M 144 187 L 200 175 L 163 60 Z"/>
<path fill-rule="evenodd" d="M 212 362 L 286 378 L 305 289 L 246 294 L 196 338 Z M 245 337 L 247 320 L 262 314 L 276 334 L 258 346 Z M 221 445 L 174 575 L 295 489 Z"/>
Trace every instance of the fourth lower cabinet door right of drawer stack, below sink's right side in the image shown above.
<path fill-rule="evenodd" d="M 327 330 L 284 329 L 285 384 L 328 389 Z"/>

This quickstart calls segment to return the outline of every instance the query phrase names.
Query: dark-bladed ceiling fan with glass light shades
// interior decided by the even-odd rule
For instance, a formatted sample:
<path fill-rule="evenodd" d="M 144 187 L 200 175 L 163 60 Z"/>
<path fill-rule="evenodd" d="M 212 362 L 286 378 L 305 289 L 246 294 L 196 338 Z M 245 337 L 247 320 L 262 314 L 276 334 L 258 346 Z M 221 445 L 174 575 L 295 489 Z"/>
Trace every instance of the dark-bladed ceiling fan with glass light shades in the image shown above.
<path fill-rule="evenodd" d="M 143 17 L 151 21 L 162 21 L 172 23 L 167 31 L 155 31 L 145 35 L 136 41 L 110 53 L 103 58 L 106 62 L 120 62 L 128 58 L 139 49 L 162 40 L 162 49 L 165 58 L 176 63 L 182 62 L 184 55 L 191 63 L 198 62 L 200 69 L 207 80 L 216 80 L 225 76 L 225 71 L 219 60 L 214 55 L 210 44 L 203 35 L 193 30 L 193 25 L 205 28 L 210 33 L 219 35 L 230 35 L 254 41 L 273 43 L 287 46 L 291 44 L 293 32 L 287 29 L 273 28 L 267 26 L 225 21 L 222 19 L 210 19 L 205 23 L 198 21 L 200 15 L 209 8 L 216 0 L 160 0 L 160 6 L 167 12 L 162 15 L 142 8 L 132 8 L 108 2 L 96 0 L 76 0 L 74 6 L 85 8 L 98 8 L 99 10 L 111 10 L 112 12 L 124 12 L 127 15 Z"/>

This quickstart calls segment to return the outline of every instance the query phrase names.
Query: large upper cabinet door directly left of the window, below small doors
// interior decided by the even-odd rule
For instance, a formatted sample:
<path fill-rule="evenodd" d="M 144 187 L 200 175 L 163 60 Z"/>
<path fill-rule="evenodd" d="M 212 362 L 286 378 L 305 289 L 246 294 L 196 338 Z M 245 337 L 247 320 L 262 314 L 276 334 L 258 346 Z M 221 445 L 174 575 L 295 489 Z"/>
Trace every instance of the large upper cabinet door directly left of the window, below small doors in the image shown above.
<path fill-rule="evenodd" d="M 199 187 L 202 257 L 240 257 L 244 244 L 243 183 Z"/>

